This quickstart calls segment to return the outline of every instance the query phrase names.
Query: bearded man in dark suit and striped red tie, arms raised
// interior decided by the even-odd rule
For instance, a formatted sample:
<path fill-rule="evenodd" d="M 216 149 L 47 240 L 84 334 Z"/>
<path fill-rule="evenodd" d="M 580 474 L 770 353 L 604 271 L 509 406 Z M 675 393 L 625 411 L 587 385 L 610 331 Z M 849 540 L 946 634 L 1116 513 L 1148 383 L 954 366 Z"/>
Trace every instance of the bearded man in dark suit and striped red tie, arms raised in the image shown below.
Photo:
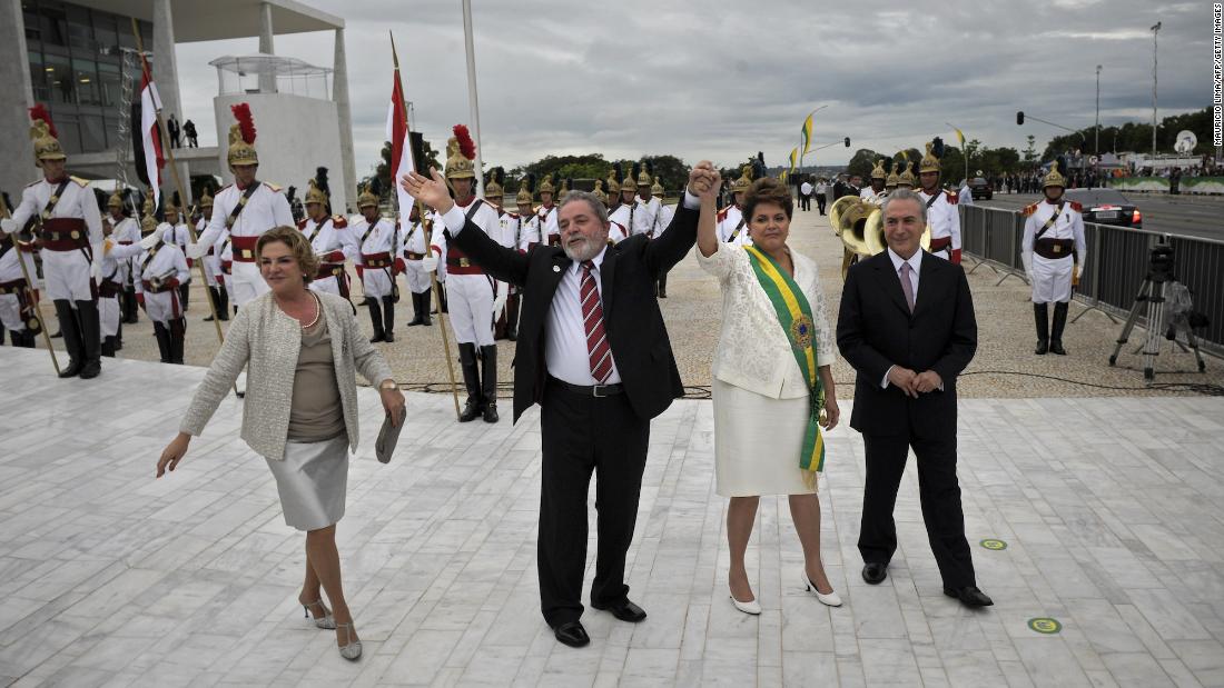
<path fill-rule="evenodd" d="M 562 202 L 561 244 L 528 253 L 503 248 L 454 207 L 444 180 L 411 174 L 403 185 L 442 214 L 448 240 L 496 280 L 523 288 L 514 353 L 514 420 L 540 403 L 543 448 L 537 567 L 545 621 L 557 640 L 590 643 L 583 613 L 586 494 L 597 472 L 599 556 L 591 606 L 639 622 L 624 561 L 638 516 L 650 419 L 684 395 L 654 296 L 659 275 L 696 241 L 698 194 L 715 194 L 717 171 L 703 161 L 667 231 L 607 244 L 607 209 L 590 193 Z M 436 265 L 436 262 L 433 263 Z M 422 264 L 431 269 L 431 265 Z"/>

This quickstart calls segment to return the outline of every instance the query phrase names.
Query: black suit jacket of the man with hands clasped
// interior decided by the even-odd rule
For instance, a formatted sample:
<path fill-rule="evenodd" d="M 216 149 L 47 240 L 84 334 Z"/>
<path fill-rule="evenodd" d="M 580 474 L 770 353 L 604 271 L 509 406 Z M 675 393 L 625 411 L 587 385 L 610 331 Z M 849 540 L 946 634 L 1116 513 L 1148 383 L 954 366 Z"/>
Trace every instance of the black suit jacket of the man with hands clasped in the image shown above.
<path fill-rule="evenodd" d="M 901 277 L 885 251 L 849 269 L 837 317 L 837 347 L 854 370 L 849 425 L 870 435 L 955 436 L 956 376 L 973 359 L 978 324 L 960 265 L 923 253 L 911 315 Z M 934 370 L 944 391 L 918 398 L 880 381 L 891 365 Z"/>

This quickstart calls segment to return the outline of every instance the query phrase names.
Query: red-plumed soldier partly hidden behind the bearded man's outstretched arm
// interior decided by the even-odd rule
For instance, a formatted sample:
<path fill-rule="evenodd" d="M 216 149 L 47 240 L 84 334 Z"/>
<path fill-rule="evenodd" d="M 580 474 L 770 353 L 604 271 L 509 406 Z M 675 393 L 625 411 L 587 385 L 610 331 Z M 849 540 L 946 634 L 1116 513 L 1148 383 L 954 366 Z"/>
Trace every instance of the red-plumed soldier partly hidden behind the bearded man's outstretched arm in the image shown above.
<path fill-rule="evenodd" d="M 472 196 L 476 181 L 472 158 L 476 156 L 476 145 L 468 134 L 468 127 L 455 125 L 454 133 L 455 136 L 447 143 L 446 176 L 454 192 L 455 207 L 486 235 L 498 240 L 497 213 L 487 203 Z M 552 200 L 551 191 L 552 185 L 547 181 L 540 186 L 540 197 L 546 203 Z M 541 225 L 554 227 L 557 208 L 548 205 L 540 211 Z M 468 254 L 450 243 L 448 231 L 443 230 L 436 236 L 441 240 L 435 241 L 446 244 L 447 306 L 450 326 L 455 341 L 459 342 L 464 386 L 468 389 L 468 401 L 459 414 L 459 422 L 468 423 L 476 417 L 483 417 L 486 423 L 497 423 L 497 346 L 493 343 L 493 313 L 502 309 L 507 297 L 496 292 L 494 281 L 483 269 L 470 262 Z M 494 299 L 499 303 L 494 304 Z"/>

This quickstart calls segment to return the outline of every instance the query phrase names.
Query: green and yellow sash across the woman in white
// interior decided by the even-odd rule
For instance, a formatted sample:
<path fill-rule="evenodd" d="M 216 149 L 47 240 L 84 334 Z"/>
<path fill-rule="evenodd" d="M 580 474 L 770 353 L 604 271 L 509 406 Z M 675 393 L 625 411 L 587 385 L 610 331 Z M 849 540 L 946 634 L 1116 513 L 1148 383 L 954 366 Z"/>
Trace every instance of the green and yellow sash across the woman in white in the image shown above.
<path fill-rule="evenodd" d="M 799 363 L 803 379 L 808 382 L 808 431 L 803 437 L 803 452 L 799 455 L 799 468 L 804 472 L 804 481 L 815 486 L 816 473 L 825 467 L 825 439 L 820 434 L 820 409 L 825 406 L 825 392 L 816 373 L 816 329 L 812 321 L 812 307 L 799 285 L 786 274 L 777 263 L 756 247 L 747 246 L 748 260 L 756 273 L 756 279 L 769 296 L 777 321 L 791 342 L 791 353 Z"/>

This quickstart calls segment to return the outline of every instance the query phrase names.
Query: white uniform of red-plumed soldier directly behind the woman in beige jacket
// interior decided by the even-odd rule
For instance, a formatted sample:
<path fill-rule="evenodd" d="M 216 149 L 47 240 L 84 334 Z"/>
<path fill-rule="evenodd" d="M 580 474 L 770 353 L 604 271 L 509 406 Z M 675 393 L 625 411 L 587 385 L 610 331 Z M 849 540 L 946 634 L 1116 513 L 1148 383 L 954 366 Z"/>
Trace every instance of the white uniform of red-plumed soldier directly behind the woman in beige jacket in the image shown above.
<path fill-rule="evenodd" d="M 289 200 L 282 193 L 280 187 L 267 182 L 256 182 L 258 187 L 251 193 L 246 205 L 234 220 L 230 231 L 230 252 L 233 265 L 233 290 L 230 293 L 234 306 L 241 308 L 255 297 L 267 293 L 268 284 L 259 275 L 259 265 L 255 262 L 255 242 L 263 232 L 279 226 L 294 226 L 294 214 L 289 209 Z M 239 204 L 246 189 L 240 189 L 237 185 L 230 185 L 217 192 L 213 197 L 213 216 L 208 220 L 208 229 L 198 237 L 198 247 L 192 247 L 192 257 L 203 255 L 208 251 L 208 244 L 217 242 L 222 232 L 229 225 L 230 213 Z M 223 258 L 226 259 L 226 258 Z"/>

